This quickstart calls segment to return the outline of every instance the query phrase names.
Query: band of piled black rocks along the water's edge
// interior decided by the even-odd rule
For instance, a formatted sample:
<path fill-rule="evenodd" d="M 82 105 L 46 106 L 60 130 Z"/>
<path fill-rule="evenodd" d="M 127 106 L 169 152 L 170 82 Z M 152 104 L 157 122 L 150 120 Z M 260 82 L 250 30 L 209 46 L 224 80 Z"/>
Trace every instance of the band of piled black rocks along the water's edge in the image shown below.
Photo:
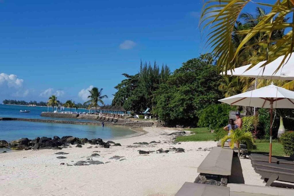
<path fill-rule="evenodd" d="M 28 138 L 21 138 L 8 143 L 5 140 L 0 140 L 0 148 L 9 148 L 11 150 L 30 150 L 30 149 L 54 149 L 61 150 L 62 148 L 71 147 L 70 145 L 76 144 L 76 147 L 82 147 L 85 143 L 91 145 L 101 145 L 101 147 L 109 148 L 110 142 L 103 142 L 102 139 L 76 138 L 73 136 L 64 136 L 59 138 L 54 136 L 53 138 L 37 137 L 34 140 Z M 114 144 L 118 145 L 118 144 Z"/>

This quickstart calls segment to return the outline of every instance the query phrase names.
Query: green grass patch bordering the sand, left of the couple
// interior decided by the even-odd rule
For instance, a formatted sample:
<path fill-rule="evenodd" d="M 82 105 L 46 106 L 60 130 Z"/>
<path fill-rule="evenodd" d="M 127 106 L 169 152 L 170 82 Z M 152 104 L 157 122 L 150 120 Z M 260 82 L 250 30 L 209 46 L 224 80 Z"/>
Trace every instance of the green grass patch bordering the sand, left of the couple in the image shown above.
<path fill-rule="evenodd" d="M 191 131 L 194 133 L 193 135 L 187 136 L 179 136 L 176 138 L 177 142 L 190 142 L 190 141 L 213 141 L 214 134 L 208 130 L 208 128 L 192 128 L 187 129 L 187 131 Z"/>

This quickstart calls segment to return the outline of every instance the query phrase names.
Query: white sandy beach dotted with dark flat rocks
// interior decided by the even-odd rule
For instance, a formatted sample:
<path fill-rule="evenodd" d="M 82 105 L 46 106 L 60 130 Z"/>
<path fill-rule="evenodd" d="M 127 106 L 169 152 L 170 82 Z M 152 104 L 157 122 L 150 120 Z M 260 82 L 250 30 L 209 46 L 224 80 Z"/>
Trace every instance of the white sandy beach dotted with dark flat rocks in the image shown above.
<path fill-rule="evenodd" d="M 144 128 L 148 133 L 132 138 L 116 140 L 122 146 L 110 148 L 64 148 L 62 150 L 22 150 L 0 154 L 1 195 L 175 195 L 184 182 L 193 182 L 197 167 L 210 151 L 204 148 L 216 146 L 216 142 L 181 142 L 174 144 L 174 136 L 161 135 L 176 129 Z M 128 148 L 135 142 L 160 141 L 161 143 Z M 164 142 L 167 143 L 164 143 Z M 134 145 L 135 146 L 135 145 Z M 184 148 L 185 153 L 150 153 L 140 155 L 138 150 L 168 150 Z M 202 148 L 198 150 L 198 148 Z M 86 160 L 100 151 L 100 165 L 67 166 Z M 67 155 L 56 155 L 66 152 Z M 123 156 L 119 160 L 112 156 Z M 57 159 L 65 156 L 66 159 Z M 125 160 L 122 160 L 125 159 Z M 265 185 L 251 167 L 250 160 L 241 159 L 245 184 Z M 65 165 L 60 165 L 65 163 Z"/>

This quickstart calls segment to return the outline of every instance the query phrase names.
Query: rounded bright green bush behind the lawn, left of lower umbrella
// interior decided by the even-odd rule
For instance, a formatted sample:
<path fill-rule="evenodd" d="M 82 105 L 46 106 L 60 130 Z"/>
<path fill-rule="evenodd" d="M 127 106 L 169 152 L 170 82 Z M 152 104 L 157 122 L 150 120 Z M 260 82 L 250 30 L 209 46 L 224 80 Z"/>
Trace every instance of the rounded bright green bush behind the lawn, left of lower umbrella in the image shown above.
<path fill-rule="evenodd" d="M 209 129 L 223 128 L 228 125 L 230 110 L 235 110 L 228 104 L 212 104 L 199 111 L 198 126 Z"/>

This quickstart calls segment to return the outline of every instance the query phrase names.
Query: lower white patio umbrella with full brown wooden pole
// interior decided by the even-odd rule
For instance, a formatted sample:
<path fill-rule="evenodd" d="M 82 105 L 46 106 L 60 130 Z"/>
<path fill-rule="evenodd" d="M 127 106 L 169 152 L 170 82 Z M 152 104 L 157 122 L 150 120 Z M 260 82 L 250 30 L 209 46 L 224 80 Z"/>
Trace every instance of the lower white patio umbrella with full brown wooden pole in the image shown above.
<path fill-rule="evenodd" d="M 272 155 L 273 108 L 294 108 L 294 92 L 273 85 L 218 100 L 230 105 L 242 105 L 257 108 L 270 108 L 270 153 Z"/>

